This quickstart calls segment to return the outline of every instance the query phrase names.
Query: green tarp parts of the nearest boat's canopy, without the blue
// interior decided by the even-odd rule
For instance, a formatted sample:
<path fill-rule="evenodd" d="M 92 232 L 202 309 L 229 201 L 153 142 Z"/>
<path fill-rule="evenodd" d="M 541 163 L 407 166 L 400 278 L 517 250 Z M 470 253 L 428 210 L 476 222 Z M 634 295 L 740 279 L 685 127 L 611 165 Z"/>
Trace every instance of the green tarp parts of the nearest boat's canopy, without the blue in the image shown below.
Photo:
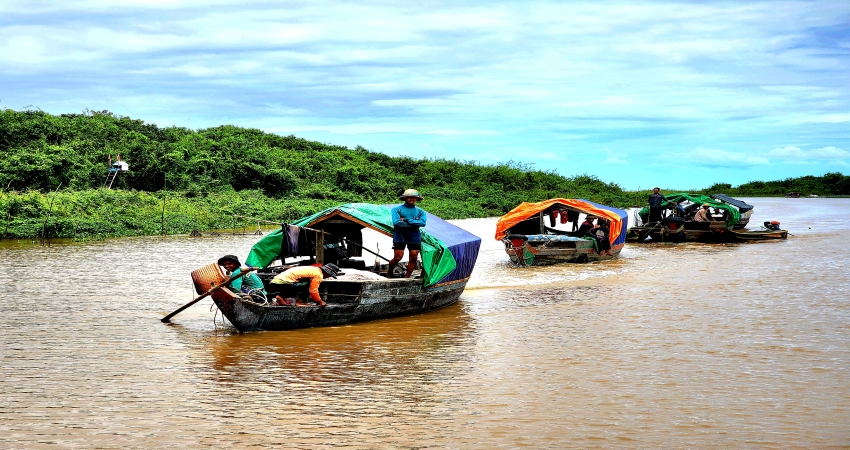
<path fill-rule="evenodd" d="M 386 206 L 369 203 L 348 203 L 335 206 L 319 211 L 312 216 L 298 219 L 292 225 L 310 226 L 322 217 L 335 213 L 350 216 L 361 224 L 384 234 L 392 235 L 393 233 L 393 219 L 390 209 Z M 425 228 L 427 229 L 427 226 Z M 245 263 L 252 267 L 267 267 L 271 264 L 280 254 L 280 247 L 283 243 L 282 234 L 282 230 L 276 230 L 260 239 L 251 248 Z M 457 262 L 446 244 L 428 234 L 425 229 L 422 230 L 422 252 L 420 255 L 422 255 L 425 286 L 438 283 L 457 266 Z"/>

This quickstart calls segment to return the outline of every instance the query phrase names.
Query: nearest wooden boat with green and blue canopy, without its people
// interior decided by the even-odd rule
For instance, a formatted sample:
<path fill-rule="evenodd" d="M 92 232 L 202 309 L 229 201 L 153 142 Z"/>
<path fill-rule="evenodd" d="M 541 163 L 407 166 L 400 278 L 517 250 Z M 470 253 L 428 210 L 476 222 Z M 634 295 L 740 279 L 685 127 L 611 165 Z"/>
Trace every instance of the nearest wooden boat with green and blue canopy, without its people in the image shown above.
<path fill-rule="evenodd" d="M 362 242 L 364 228 L 392 236 L 390 209 L 393 206 L 346 204 L 296 221 L 293 225 L 309 227 L 315 239 L 307 239 L 315 244 L 312 254 L 302 256 L 311 257 L 307 262 L 337 263 L 343 270 L 365 266 L 362 260 L 350 259 L 350 256 L 357 256 L 362 247 L 350 245 L 343 248 L 343 254 L 328 249 L 344 246 L 345 242 Z M 216 290 L 212 294 L 213 302 L 239 331 L 344 325 L 433 311 L 450 305 L 466 287 L 481 238 L 433 214 L 428 214 L 427 221 L 422 233 L 422 268 L 414 271 L 412 278 L 325 279 L 319 286 L 319 293 L 327 303 L 324 308 L 261 303 L 228 288 Z M 254 245 L 246 260 L 248 265 L 264 268 L 258 274 L 266 283 L 282 270 L 269 265 L 280 256 L 284 232 L 282 229 L 265 236 Z M 373 270 L 379 269 L 373 267 Z M 226 278 L 217 264 L 210 264 L 192 272 L 192 279 L 201 293 Z"/>

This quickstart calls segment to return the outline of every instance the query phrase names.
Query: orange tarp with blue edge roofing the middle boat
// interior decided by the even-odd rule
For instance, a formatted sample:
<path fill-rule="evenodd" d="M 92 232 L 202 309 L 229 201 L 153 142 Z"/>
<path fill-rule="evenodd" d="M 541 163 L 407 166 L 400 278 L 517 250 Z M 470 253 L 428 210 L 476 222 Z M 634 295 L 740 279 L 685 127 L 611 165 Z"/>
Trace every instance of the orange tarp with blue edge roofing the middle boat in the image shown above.
<path fill-rule="evenodd" d="M 496 239 L 502 240 L 508 234 L 508 230 L 523 220 L 530 219 L 540 212 L 554 205 L 563 205 L 576 211 L 594 216 L 604 217 L 611 222 L 611 232 L 608 240 L 611 245 L 619 245 L 626 242 L 626 228 L 628 227 L 628 214 L 622 209 L 600 205 L 584 199 L 552 198 L 537 203 L 522 202 L 516 208 L 510 210 L 496 223 Z"/>

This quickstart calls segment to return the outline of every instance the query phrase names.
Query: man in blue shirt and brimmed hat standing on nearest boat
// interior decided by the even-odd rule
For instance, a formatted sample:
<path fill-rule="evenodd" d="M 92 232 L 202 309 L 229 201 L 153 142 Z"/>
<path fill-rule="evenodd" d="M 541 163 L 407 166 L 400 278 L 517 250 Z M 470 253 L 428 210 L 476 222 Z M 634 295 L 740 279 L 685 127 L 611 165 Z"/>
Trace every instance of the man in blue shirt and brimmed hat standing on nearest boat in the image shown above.
<path fill-rule="evenodd" d="M 410 259 L 407 262 L 407 274 L 410 278 L 413 269 L 416 268 L 416 259 L 422 249 L 422 234 L 419 229 L 425 226 L 425 211 L 416 206 L 416 202 L 423 200 L 416 189 L 408 189 L 398 196 L 404 203 L 392 209 L 393 217 L 393 259 L 387 269 L 387 278 L 393 277 L 393 269 L 404 257 L 404 247 L 407 247 Z"/>

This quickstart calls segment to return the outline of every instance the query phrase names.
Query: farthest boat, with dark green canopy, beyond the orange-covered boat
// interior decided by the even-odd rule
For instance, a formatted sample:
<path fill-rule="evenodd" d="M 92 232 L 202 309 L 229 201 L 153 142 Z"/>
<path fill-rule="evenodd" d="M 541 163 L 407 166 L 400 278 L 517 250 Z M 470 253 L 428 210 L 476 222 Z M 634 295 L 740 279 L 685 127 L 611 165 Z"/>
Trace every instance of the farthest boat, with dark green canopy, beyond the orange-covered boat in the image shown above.
<path fill-rule="evenodd" d="M 747 230 L 753 205 L 724 194 L 669 194 L 660 222 L 647 222 L 649 208 L 635 214 L 635 226 L 629 229 L 629 242 L 742 242 L 785 239 L 779 222 L 765 222 L 761 230 Z M 707 220 L 695 220 L 697 212 L 708 207 Z"/>

